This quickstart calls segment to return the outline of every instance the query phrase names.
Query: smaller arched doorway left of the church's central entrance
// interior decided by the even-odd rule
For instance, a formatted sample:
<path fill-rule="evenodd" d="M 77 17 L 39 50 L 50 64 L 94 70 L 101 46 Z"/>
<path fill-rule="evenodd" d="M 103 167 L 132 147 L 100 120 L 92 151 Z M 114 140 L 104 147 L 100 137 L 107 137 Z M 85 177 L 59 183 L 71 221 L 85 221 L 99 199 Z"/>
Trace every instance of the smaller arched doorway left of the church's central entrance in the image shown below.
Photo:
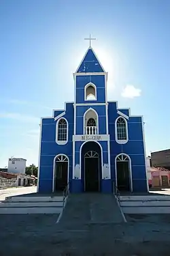
<path fill-rule="evenodd" d="M 68 183 L 69 160 L 65 155 L 56 156 L 54 162 L 54 191 L 63 191 Z"/>

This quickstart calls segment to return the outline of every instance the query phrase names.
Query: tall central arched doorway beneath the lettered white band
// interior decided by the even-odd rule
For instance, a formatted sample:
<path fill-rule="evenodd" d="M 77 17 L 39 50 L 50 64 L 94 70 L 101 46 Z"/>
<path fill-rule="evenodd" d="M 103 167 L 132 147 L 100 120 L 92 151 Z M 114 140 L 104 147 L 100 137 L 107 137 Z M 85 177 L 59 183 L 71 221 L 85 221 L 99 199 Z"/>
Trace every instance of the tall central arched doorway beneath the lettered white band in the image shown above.
<path fill-rule="evenodd" d="M 81 171 L 84 191 L 99 192 L 101 183 L 101 147 L 98 143 L 89 141 L 82 146 Z"/>

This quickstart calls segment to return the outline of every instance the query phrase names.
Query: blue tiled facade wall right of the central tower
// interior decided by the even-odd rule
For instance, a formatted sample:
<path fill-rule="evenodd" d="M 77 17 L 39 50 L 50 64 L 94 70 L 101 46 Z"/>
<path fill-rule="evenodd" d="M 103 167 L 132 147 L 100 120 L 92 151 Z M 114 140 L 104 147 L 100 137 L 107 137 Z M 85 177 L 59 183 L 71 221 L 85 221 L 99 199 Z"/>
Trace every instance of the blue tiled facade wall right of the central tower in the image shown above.
<path fill-rule="evenodd" d="M 129 111 L 122 111 L 125 115 L 129 115 Z M 109 120 L 109 134 L 110 134 L 110 157 L 112 180 L 115 180 L 115 158 L 118 154 L 124 153 L 131 158 L 131 170 L 133 177 L 133 191 L 146 192 L 147 178 L 146 178 L 146 162 L 143 144 L 143 130 L 141 117 L 129 117 L 126 119 L 128 124 L 129 141 L 125 144 L 118 144 L 115 138 L 115 121 L 118 117 L 116 110 L 116 102 L 109 103 L 108 120 Z"/>

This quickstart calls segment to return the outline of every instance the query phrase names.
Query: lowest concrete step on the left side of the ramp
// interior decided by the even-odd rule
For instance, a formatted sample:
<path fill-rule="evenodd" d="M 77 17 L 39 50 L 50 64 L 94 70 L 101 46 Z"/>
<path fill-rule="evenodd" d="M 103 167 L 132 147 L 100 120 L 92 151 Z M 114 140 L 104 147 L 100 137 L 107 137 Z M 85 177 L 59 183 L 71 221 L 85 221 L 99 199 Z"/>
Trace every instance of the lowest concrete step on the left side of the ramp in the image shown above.
<path fill-rule="evenodd" d="M 63 207 L 2 207 L 0 214 L 60 214 Z"/>

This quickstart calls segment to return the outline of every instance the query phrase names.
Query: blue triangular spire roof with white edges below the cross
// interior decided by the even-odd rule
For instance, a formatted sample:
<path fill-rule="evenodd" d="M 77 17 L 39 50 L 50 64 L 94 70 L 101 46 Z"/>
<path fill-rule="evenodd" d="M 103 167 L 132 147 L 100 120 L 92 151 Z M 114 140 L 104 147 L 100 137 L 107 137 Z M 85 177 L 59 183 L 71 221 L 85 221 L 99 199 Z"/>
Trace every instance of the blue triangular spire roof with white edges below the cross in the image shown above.
<path fill-rule="evenodd" d="M 92 48 L 88 48 L 88 51 L 82 59 L 82 62 L 80 63 L 80 66 L 76 72 L 105 72 L 105 70 L 101 66 L 101 63 L 97 59 L 95 52 L 92 50 Z"/>

